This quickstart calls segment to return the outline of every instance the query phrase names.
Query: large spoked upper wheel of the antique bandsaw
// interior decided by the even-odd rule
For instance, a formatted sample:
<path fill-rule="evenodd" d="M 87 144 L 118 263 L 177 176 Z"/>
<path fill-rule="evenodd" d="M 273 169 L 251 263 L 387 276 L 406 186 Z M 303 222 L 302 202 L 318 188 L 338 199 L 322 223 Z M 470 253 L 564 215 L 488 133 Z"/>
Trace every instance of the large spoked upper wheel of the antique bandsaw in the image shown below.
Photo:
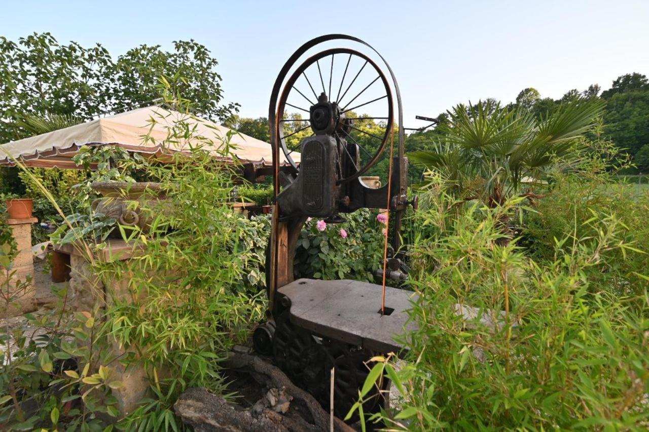
<path fill-rule="evenodd" d="M 320 94 L 319 94 L 320 93 Z M 299 161 L 293 158 L 299 152 L 299 138 L 304 131 L 312 132 L 308 117 L 310 107 L 317 104 L 322 95 L 335 102 L 340 117 L 334 132 L 337 141 L 347 140 L 356 145 L 358 155 L 342 145 L 341 160 L 354 167 L 353 173 L 341 178 L 339 183 L 349 182 L 366 173 L 380 158 L 393 130 L 394 106 L 392 91 L 386 75 L 376 63 L 363 53 L 347 48 L 321 51 L 304 61 L 288 78 L 282 90 L 276 119 L 277 138 L 286 161 L 299 171 Z M 349 114 L 363 108 L 371 115 L 350 117 Z M 299 114 L 299 115 L 296 115 Z M 300 118 L 306 115 L 306 119 Z M 359 121 L 381 121 L 384 132 L 374 134 L 354 125 Z M 352 130 L 365 134 L 371 147 L 361 145 L 352 136 Z M 302 135 L 298 135 L 302 134 Z M 313 135 L 313 134 L 312 134 Z M 290 139 L 291 137 L 295 137 Z"/>

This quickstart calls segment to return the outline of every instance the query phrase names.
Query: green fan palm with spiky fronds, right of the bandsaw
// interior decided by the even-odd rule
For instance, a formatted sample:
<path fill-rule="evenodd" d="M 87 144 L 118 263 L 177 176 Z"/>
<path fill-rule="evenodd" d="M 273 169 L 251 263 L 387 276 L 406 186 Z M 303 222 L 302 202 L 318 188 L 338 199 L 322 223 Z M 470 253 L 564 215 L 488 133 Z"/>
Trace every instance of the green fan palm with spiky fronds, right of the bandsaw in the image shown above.
<path fill-rule="evenodd" d="M 460 104 L 448 113 L 450 123 L 432 150 L 408 156 L 441 174 L 457 198 L 480 199 L 494 208 L 517 194 L 538 197 L 530 190 L 522 193 L 530 179 L 541 181 L 551 170 L 578 167 L 584 159 L 583 134 L 603 108 L 600 99 L 579 99 L 535 119 L 528 110 L 502 108 L 493 100 Z"/>

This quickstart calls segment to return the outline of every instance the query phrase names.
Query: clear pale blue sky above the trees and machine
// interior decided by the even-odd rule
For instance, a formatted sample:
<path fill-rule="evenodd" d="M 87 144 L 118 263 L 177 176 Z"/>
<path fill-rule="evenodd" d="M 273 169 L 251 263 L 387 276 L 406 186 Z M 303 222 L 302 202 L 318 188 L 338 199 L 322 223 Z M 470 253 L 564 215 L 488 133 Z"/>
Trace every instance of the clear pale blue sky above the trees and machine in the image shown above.
<path fill-rule="evenodd" d="M 228 101 L 267 115 L 271 86 L 306 40 L 347 33 L 395 71 L 406 126 L 458 102 L 559 98 L 633 71 L 649 75 L 649 1 L 0 1 L 0 35 L 51 32 L 110 53 L 193 38 L 219 60 Z"/>

